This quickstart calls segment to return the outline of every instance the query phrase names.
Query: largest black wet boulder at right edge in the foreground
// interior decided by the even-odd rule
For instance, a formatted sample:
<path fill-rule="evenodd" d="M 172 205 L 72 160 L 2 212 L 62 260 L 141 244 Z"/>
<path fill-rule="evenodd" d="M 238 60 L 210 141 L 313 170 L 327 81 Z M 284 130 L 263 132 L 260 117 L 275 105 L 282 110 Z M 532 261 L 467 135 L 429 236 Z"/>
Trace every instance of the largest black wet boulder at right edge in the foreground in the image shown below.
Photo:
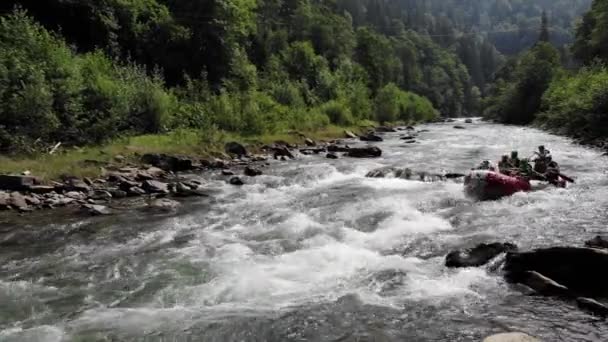
<path fill-rule="evenodd" d="M 506 277 L 521 282 L 535 271 L 582 297 L 608 295 L 608 251 L 594 248 L 553 247 L 507 254 Z"/>

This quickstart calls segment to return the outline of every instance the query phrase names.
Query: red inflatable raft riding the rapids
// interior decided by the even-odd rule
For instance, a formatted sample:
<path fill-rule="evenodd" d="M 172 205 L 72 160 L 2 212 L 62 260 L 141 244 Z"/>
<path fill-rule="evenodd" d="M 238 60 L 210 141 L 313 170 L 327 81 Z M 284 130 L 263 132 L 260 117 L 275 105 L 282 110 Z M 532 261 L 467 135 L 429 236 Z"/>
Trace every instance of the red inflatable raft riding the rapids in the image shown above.
<path fill-rule="evenodd" d="M 530 191 L 532 185 L 525 178 L 494 171 L 473 170 L 464 179 L 464 190 L 467 196 L 484 201 L 511 196 L 520 191 Z"/>

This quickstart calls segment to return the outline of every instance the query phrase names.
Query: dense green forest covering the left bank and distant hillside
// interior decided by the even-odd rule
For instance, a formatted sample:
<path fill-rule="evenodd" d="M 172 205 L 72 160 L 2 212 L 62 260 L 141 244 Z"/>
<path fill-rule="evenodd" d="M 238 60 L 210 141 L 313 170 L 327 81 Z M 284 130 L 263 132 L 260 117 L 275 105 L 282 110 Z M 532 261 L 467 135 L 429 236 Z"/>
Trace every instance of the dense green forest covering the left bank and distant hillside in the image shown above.
<path fill-rule="evenodd" d="M 569 59 L 563 45 L 590 1 L 5 0 L 0 151 L 410 122 L 482 104 L 502 115 L 520 65 L 548 83 Z M 544 11 L 546 48 L 512 58 L 538 41 Z M 605 53 L 589 46 L 602 20 L 587 15 L 578 29 L 574 55 L 586 63 Z"/>

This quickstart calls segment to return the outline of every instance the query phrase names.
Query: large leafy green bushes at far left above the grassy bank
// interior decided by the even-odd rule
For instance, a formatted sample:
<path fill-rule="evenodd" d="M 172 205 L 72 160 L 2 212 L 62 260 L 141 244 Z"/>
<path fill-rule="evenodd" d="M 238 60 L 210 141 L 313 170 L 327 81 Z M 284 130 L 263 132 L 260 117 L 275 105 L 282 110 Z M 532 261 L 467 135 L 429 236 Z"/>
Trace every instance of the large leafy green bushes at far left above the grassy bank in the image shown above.
<path fill-rule="evenodd" d="M 0 19 L 0 99 L 2 150 L 159 132 L 175 105 L 160 76 L 77 56 L 23 12 Z"/>

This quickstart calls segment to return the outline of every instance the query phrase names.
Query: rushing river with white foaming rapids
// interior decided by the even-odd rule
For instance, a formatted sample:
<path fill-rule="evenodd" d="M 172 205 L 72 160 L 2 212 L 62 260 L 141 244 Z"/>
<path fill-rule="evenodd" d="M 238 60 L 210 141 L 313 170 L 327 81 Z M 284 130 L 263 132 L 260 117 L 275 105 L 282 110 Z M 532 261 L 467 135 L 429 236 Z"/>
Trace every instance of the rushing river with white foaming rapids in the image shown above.
<path fill-rule="evenodd" d="M 608 324 L 445 255 L 480 242 L 582 245 L 606 232 L 608 158 L 531 128 L 419 126 L 379 159 L 300 156 L 175 214 L 59 212 L 0 219 L 0 341 L 480 341 L 523 331 L 600 341 Z M 370 179 L 382 166 L 463 172 L 544 144 L 568 189 L 495 202 L 457 182 Z"/>

